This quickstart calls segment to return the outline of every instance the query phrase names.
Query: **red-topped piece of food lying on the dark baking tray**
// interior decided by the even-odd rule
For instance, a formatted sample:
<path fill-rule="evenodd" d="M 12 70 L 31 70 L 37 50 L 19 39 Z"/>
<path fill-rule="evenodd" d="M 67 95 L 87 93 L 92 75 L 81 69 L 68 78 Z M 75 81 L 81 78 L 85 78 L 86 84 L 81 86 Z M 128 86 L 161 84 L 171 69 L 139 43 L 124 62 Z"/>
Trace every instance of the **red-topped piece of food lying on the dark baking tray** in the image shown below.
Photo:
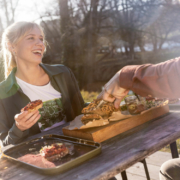
<path fill-rule="evenodd" d="M 44 146 L 40 150 L 40 154 L 48 161 L 57 161 L 69 154 L 69 149 L 63 143 L 54 143 L 50 146 Z"/>

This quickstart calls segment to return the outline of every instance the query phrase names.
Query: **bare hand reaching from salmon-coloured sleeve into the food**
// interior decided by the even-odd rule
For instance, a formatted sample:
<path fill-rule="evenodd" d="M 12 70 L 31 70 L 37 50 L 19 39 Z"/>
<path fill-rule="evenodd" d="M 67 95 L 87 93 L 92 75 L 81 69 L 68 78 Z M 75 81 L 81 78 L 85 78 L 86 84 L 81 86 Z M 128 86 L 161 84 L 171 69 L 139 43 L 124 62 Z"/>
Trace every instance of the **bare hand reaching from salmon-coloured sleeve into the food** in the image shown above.
<path fill-rule="evenodd" d="M 118 71 L 104 86 L 103 91 L 98 95 L 97 99 L 114 102 L 115 108 L 119 108 L 120 103 L 129 90 L 120 87 L 120 71 Z"/>

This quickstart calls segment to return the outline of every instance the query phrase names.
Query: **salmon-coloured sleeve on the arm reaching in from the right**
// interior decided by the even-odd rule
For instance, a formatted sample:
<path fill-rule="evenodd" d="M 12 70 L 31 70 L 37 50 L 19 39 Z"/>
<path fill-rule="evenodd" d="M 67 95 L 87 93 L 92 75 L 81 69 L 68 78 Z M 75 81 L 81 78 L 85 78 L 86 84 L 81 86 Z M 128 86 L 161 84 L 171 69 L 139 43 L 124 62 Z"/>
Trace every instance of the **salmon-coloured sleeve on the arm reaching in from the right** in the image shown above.
<path fill-rule="evenodd" d="M 120 86 L 141 96 L 180 98 L 180 58 L 122 68 Z"/>

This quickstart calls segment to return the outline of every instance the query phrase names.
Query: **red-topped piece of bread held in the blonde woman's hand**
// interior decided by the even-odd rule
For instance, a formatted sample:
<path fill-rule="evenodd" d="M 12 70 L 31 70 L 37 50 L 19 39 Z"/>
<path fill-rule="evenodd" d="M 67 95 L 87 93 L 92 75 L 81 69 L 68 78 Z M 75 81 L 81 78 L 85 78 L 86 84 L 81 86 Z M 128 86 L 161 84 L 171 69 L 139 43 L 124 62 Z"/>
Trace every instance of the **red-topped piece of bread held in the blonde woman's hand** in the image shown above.
<path fill-rule="evenodd" d="M 21 111 L 32 112 L 42 108 L 43 102 L 41 100 L 31 101 Z"/>

